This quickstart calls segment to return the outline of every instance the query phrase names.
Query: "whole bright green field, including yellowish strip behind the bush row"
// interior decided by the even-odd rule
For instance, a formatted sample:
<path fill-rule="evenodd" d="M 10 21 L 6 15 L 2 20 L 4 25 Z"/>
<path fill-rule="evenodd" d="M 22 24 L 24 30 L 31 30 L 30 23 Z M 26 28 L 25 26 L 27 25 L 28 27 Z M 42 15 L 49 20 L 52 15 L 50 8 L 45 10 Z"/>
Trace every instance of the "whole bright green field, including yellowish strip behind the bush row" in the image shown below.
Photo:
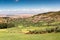
<path fill-rule="evenodd" d="M 45 34 L 25 34 L 23 30 L 44 29 L 46 27 L 13 27 L 8 29 L 0 29 L 0 40 L 60 40 L 60 33 L 45 33 Z"/>

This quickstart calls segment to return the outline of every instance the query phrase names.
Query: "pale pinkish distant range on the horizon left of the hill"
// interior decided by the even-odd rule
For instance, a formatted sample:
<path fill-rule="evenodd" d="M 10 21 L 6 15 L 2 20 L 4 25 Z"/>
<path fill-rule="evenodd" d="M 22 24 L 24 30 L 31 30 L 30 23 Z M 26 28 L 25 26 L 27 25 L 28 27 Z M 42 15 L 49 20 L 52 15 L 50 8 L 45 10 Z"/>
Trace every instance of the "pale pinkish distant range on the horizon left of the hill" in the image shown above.
<path fill-rule="evenodd" d="M 0 14 L 0 17 L 10 17 L 10 18 L 28 18 L 31 16 L 33 16 L 33 14 L 13 14 L 13 15 Z"/>

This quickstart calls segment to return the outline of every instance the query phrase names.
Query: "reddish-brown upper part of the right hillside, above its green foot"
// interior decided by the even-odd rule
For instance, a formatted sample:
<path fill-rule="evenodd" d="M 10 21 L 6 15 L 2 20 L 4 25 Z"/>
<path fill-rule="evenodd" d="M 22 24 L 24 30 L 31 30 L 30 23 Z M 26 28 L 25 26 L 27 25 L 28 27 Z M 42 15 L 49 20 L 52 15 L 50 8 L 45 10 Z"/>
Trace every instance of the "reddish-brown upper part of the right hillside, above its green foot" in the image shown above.
<path fill-rule="evenodd" d="M 33 20 L 36 22 L 38 21 L 60 21 L 60 11 L 58 12 L 47 12 L 38 15 L 34 15 Z"/>

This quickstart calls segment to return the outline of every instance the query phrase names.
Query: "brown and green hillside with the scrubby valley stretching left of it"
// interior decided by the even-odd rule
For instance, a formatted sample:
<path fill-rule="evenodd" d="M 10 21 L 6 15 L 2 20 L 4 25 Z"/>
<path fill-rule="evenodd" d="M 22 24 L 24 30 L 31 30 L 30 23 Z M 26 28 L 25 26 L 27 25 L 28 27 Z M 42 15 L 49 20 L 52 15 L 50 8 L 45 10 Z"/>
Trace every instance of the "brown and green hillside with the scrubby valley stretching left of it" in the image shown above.
<path fill-rule="evenodd" d="M 4 18 L 5 19 L 5 18 Z M 60 11 L 40 13 L 28 18 L 6 18 L 8 23 L 13 23 L 17 26 L 30 27 L 30 26 L 60 26 Z"/>

